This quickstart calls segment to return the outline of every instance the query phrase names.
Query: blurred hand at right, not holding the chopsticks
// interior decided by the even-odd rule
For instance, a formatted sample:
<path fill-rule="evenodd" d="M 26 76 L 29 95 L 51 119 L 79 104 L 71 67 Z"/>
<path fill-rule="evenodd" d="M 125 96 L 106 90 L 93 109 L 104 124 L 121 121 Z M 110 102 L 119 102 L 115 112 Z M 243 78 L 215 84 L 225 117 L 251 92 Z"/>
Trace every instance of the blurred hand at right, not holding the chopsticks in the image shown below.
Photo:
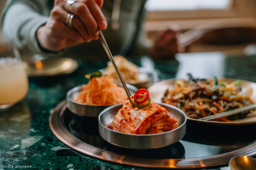
<path fill-rule="evenodd" d="M 171 24 L 162 32 L 151 49 L 151 56 L 155 59 L 174 58 L 174 55 L 185 51 L 185 47 L 179 42 L 181 34 L 178 25 Z"/>

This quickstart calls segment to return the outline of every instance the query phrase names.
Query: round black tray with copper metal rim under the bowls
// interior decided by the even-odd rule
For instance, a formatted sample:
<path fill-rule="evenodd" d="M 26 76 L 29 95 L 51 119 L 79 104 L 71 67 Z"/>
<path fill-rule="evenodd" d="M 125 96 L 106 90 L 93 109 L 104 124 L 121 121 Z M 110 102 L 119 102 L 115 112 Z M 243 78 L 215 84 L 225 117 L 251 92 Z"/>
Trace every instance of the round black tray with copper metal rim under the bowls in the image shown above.
<path fill-rule="evenodd" d="M 86 118 L 81 119 L 81 116 L 71 115 L 72 113 L 67 109 L 66 101 L 59 103 L 49 118 L 49 124 L 51 130 L 56 135 L 56 137 L 62 141 L 65 145 L 72 148 L 73 150 L 91 156 L 95 159 L 108 161 L 117 164 L 125 164 L 130 166 L 138 166 L 138 167 L 148 167 L 148 168 L 173 168 L 173 169 L 195 169 L 195 168 L 205 168 L 205 167 L 219 167 L 226 165 L 228 166 L 229 160 L 238 155 L 247 155 L 247 156 L 254 156 L 256 155 L 256 142 L 255 137 L 253 140 L 248 141 L 248 144 L 240 144 L 235 147 L 228 147 L 225 149 L 225 153 L 216 154 L 211 156 L 199 156 L 199 157 L 185 157 L 185 145 L 182 145 L 181 142 L 177 142 L 173 145 L 154 149 L 154 150 L 130 150 L 130 149 L 120 149 L 116 148 L 116 146 L 112 146 L 111 144 L 107 143 L 100 137 L 97 132 L 97 123 L 93 123 L 91 120 L 87 120 Z M 68 117 L 71 116 L 71 117 Z M 65 118 L 65 116 L 67 116 Z M 74 116 L 74 118 L 72 118 Z M 81 123 L 82 126 L 79 126 L 79 123 L 74 123 L 74 119 L 78 121 L 88 121 L 89 127 L 83 127 L 83 125 L 87 123 Z M 97 120 L 97 119 L 96 119 Z M 72 122 L 74 124 L 72 124 Z M 73 129 L 72 126 L 77 126 L 76 129 Z M 189 127 L 188 127 L 189 128 Z M 187 128 L 187 129 L 188 129 Z M 88 134 L 84 133 L 82 129 L 88 131 Z M 93 130 L 94 129 L 94 130 Z M 96 129 L 96 131 L 95 131 Z M 196 132 L 198 133 L 198 132 Z M 78 138 L 77 135 L 90 136 L 90 140 L 94 141 L 82 141 L 82 138 Z M 93 136 L 93 137 L 92 137 Z M 193 135 L 191 135 L 193 136 Z M 237 134 L 239 136 L 239 134 Z M 252 135 L 251 135 L 252 136 Z M 92 138 L 91 138 L 92 137 Z M 250 136 L 248 136 L 250 138 Z M 184 138 L 188 138 L 185 137 Z M 229 138 L 225 138 L 228 140 Z M 183 139 L 182 139 L 183 140 Z M 202 143 L 205 140 L 202 138 Z M 209 139 L 210 140 L 210 139 Z M 215 139 L 213 139 L 215 140 Z M 223 140 L 223 139 L 222 139 Z M 245 140 L 245 139 L 244 139 Z M 94 145 L 91 145 L 91 142 Z M 185 141 L 186 144 L 190 144 L 193 142 Z M 237 143 L 237 141 L 234 141 Z M 246 143 L 246 142 L 245 142 Z M 200 142 L 198 143 L 200 144 Z M 218 145 L 218 142 L 215 143 Z M 212 145 L 212 144 L 211 144 Z M 225 146 L 225 144 L 221 144 Z M 204 145 L 199 145 L 199 149 L 204 147 Z M 214 146 L 213 146 L 214 147 Z M 239 147 L 239 148 L 237 148 Z M 107 149 L 106 149 L 107 148 Z M 229 150 L 231 149 L 231 150 Z M 169 155 L 166 156 L 164 152 L 168 151 Z M 201 152 L 198 151 L 198 153 Z M 173 154 L 170 154 L 173 153 Z"/>

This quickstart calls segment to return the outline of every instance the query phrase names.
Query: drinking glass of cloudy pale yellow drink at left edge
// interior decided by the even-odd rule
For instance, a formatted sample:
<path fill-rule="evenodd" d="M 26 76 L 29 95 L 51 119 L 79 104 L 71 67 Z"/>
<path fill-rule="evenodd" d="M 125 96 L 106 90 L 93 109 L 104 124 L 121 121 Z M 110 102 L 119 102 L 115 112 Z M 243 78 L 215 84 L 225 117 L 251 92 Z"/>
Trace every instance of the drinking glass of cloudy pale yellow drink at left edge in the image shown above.
<path fill-rule="evenodd" d="M 20 102 L 28 92 L 28 76 L 11 37 L 0 34 L 0 109 Z"/>

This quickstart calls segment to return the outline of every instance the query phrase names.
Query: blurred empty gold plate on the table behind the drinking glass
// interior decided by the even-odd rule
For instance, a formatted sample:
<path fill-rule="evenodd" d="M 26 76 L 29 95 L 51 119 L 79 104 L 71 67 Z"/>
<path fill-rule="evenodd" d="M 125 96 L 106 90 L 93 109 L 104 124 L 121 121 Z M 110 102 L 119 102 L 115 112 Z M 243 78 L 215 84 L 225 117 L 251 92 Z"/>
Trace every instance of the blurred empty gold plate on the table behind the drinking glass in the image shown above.
<path fill-rule="evenodd" d="M 49 57 L 35 63 L 24 62 L 24 67 L 29 77 L 56 76 L 74 72 L 78 62 L 71 58 Z"/>

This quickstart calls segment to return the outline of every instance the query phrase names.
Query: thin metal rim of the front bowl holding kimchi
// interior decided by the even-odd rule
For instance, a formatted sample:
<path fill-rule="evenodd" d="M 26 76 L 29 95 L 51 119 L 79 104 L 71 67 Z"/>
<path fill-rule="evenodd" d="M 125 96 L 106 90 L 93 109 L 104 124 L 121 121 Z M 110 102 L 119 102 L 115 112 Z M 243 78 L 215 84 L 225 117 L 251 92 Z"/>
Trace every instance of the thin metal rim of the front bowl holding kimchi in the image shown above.
<path fill-rule="evenodd" d="M 119 134 L 121 134 L 121 135 L 130 135 L 130 136 L 155 136 L 155 135 L 164 135 L 164 134 L 166 134 L 166 133 L 173 132 L 173 131 L 176 130 L 176 129 L 182 128 L 182 126 L 184 126 L 184 125 L 187 123 L 187 116 L 186 116 L 186 114 L 185 114 L 181 109 L 179 109 L 179 108 L 177 108 L 177 107 L 174 107 L 174 106 L 172 106 L 172 105 L 165 104 L 165 103 L 157 103 L 157 104 L 159 104 L 159 105 L 165 105 L 165 106 L 167 106 L 167 107 L 171 107 L 172 109 L 175 109 L 175 110 L 180 111 L 181 114 L 182 114 L 182 116 L 184 117 L 184 122 L 182 123 L 182 125 L 180 125 L 179 127 L 175 128 L 175 129 L 173 129 L 173 130 L 170 130 L 170 131 L 167 131 L 167 132 L 162 132 L 162 133 L 156 133 L 156 134 L 128 134 L 128 133 L 121 133 L 121 132 L 117 132 L 117 131 L 111 130 L 111 129 L 107 128 L 106 126 L 104 126 L 104 125 L 101 123 L 100 118 L 101 118 L 101 116 L 104 114 L 105 110 L 107 110 L 107 109 L 110 110 L 110 109 L 112 109 L 112 108 L 114 108 L 114 107 L 118 107 L 119 105 L 121 106 L 121 105 L 123 105 L 122 103 L 119 103 L 119 104 L 110 106 L 110 107 L 104 109 L 103 111 L 101 111 L 101 113 L 100 113 L 99 116 L 98 116 L 98 122 L 99 122 L 99 124 L 100 124 L 102 127 L 104 127 L 104 128 L 107 129 L 107 130 L 111 130 L 113 133 L 119 133 Z"/>

